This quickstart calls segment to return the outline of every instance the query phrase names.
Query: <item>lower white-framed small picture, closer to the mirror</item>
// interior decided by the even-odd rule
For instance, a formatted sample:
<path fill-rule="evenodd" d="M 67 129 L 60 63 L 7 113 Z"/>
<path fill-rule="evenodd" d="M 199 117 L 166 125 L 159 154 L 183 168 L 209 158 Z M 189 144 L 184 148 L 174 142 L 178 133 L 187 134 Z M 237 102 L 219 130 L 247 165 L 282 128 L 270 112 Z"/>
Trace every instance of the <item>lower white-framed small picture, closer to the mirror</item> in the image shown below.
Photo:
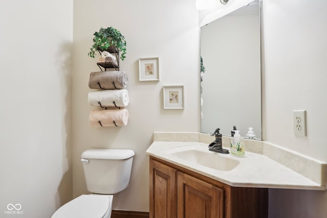
<path fill-rule="evenodd" d="M 184 109 L 184 86 L 164 86 L 164 109 Z"/>

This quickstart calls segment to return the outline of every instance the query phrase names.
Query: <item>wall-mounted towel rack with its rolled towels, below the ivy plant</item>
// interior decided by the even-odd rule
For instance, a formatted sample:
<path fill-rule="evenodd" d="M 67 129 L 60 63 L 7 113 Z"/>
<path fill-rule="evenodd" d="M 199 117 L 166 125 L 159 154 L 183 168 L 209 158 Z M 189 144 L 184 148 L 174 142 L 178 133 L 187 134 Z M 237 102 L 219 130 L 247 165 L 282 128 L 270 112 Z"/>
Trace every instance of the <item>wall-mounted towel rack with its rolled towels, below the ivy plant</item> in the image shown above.
<path fill-rule="evenodd" d="M 129 101 L 126 90 L 128 77 L 125 71 L 120 71 L 119 51 L 109 47 L 105 51 L 98 49 L 98 52 L 101 57 L 97 65 L 101 71 L 91 72 L 88 81 L 88 87 L 98 91 L 89 92 L 87 100 L 90 105 L 100 108 L 90 112 L 89 123 L 97 128 L 126 126 L 128 110 L 124 107 Z M 108 68 L 111 70 L 107 70 Z"/>

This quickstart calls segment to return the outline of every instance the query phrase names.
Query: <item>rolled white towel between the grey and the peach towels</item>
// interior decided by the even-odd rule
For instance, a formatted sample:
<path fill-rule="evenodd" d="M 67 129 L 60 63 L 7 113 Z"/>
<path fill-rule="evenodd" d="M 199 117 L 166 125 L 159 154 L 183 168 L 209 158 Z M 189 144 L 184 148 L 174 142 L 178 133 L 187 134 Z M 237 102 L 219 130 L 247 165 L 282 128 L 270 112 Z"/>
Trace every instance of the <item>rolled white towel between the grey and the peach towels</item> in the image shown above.
<path fill-rule="evenodd" d="M 126 89 L 91 91 L 88 92 L 87 101 L 93 106 L 101 104 L 102 107 L 126 107 L 129 103 L 128 91 Z"/>

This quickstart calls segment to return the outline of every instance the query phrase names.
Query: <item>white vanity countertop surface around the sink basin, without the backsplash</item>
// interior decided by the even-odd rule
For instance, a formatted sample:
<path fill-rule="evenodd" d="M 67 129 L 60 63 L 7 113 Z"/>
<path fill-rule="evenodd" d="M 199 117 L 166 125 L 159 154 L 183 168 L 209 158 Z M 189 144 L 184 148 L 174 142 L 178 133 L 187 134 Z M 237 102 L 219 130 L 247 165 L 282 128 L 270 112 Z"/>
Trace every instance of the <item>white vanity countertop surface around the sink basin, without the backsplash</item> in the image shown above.
<path fill-rule="evenodd" d="M 212 152 L 213 155 L 217 155 L 217 158 L 220 155 L 226 155 L 228 158 L 240 161 L 240 164 L 230 171 L 219 171 L 173 157 L 165 152 L 167 149 L 191 145 L 203 146 L 207 151 L 208 144 L 202 142 L 154 141 L 146 153 L 231 186 L 326 190 L 325 184 L 314 182 L 263 154 L 246 151 L 244 157 L 236 157 L 231 154 Z M 325 167 L 322 168 L 325 169 Z"/>

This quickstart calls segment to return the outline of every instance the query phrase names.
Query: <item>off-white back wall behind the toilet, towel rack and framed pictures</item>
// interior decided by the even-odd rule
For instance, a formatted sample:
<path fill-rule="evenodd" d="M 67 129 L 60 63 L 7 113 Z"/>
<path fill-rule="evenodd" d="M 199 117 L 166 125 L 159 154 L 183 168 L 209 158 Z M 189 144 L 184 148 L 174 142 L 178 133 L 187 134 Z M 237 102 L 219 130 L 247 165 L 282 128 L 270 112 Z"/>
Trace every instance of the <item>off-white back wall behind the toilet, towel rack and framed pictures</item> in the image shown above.
<path fill-rule="evenodd" d="M 154 131 L 199 131 L 199 27 L 195 1 L 75 1 L 73 47 L 73 189 L 86 190 L 80 156 L 88 148 L 135 151 L 128 188 L 114 195 L 113 209 L 149 210 L 149 166 L 145 151 Z M 88 78 L 99 71 L 87 56 L 92 34 L 112 26 L 127 41 L 121 70 L 129 76 L 126 127 L 92 128 L 87 103 Z M 138 58 L 159 57 L 159 82 L 138 81 Z M 185 109 L 164 110 L 162 86 L 184 85 Z"/>

